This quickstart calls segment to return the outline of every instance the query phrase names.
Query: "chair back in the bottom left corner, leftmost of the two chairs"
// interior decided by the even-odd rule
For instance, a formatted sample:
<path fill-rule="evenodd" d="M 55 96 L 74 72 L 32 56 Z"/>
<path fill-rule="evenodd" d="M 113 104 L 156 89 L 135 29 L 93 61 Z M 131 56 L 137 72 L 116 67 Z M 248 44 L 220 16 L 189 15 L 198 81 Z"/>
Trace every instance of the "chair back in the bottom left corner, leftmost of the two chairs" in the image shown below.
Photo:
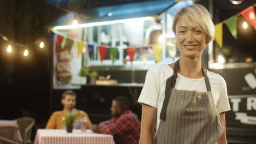
<path fill-rule="evenodd" d="M 5 144 L 20 144 L 15 141 L 15 134 L 18 133 L 19 128 L 16 126 L 1 126 L 0 127 L 0 143 Z"/>

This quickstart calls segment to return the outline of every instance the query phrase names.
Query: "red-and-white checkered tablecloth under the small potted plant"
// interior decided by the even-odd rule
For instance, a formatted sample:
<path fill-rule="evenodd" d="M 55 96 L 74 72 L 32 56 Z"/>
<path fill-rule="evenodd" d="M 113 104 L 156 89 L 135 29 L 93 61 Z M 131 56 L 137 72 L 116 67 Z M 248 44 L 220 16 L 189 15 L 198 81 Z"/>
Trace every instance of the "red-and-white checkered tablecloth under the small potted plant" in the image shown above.
<path fill-rule="evenodd" d="M 74 129 L 67 133 L 62 129 L 38 129 L 34 144 L 114 144 L 113 135 L 97 134 L 91 130 L 82 133 Z"/>

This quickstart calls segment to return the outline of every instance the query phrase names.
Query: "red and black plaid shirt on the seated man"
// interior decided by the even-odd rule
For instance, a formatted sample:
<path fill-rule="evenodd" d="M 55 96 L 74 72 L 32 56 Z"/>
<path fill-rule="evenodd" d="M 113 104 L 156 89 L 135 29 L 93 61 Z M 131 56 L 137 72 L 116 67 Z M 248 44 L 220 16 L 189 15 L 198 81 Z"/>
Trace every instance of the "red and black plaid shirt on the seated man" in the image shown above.
<path fill-rule="evenodd" d="M 141 122 L 137 115 L 125 111 L 120 117 L 114 117 L 100 123 L 101 133 L 114 135 L 123 144 L 136 144 L 139 141 Z"/>

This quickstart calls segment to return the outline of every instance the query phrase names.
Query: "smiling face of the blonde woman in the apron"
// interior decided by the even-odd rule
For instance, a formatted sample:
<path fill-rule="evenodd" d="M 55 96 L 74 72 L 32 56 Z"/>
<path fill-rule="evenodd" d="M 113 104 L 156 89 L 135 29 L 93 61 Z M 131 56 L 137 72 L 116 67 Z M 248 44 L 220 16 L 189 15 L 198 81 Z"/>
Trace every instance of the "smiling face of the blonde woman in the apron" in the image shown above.
<path fill-rule="evenodd" d="M 206 33 L 202 32 L 200 27 L 189 25 L 183 17 L 176 24 L 175 38 L 181 55 L 185 57 L 201 57 L 206 48 Z"/>

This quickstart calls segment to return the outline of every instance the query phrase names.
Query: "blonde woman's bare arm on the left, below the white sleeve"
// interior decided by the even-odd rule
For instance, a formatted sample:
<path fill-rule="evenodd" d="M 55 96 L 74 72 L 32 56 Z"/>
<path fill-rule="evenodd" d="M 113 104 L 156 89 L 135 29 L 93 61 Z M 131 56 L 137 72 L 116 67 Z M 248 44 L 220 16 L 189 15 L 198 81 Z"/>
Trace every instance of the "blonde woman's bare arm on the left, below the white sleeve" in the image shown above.
<path fill-rule="evenodd" d="M 139 138 L 139 144 L 153 143 L 156 112 L 157 109 L 155 107 L 146 104 L 142 105 L 141 137 Z"/>

